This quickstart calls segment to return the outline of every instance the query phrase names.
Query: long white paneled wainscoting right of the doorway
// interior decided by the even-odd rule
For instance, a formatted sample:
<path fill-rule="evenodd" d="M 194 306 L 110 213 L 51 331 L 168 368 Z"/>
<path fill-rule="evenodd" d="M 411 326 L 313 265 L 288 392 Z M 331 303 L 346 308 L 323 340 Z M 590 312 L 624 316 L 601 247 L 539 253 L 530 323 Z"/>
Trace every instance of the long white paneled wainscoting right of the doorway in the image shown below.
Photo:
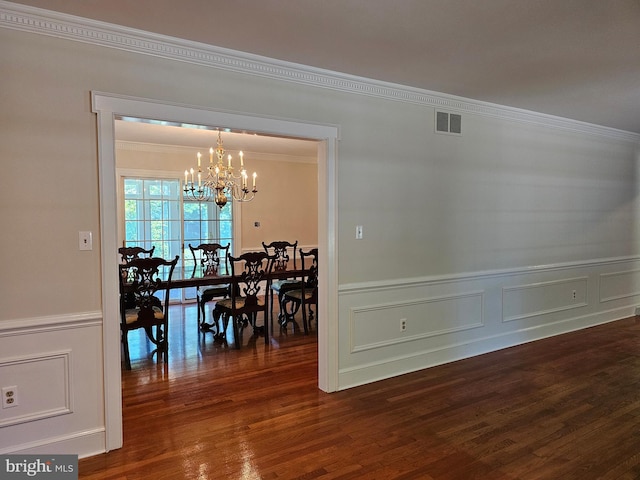
<path fill-rule="evenodd" d="M 624 257 L 342 285 L 339 388 L 632 316 L 639 266 Z"/>

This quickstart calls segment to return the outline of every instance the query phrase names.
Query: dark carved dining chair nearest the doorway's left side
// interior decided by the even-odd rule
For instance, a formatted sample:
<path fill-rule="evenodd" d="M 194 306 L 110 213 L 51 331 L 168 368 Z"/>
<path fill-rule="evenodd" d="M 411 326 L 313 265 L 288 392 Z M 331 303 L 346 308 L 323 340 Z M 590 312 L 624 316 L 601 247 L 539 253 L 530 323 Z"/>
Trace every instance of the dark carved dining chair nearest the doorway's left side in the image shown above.
<path fill-rule="evenodd" d="M 140 328 L 156 346 L 158 361 L 161 357 L 165 363 L 169 361 L 169 290 L 178 258 L 133 258 L 120 265 L 121 288 L 131 292 L 134 299 L 134 305 L 128 306 L 125 296 L 120 296 L 120 332 L 127 370 L 131 370 L 129 332 Z"/>

